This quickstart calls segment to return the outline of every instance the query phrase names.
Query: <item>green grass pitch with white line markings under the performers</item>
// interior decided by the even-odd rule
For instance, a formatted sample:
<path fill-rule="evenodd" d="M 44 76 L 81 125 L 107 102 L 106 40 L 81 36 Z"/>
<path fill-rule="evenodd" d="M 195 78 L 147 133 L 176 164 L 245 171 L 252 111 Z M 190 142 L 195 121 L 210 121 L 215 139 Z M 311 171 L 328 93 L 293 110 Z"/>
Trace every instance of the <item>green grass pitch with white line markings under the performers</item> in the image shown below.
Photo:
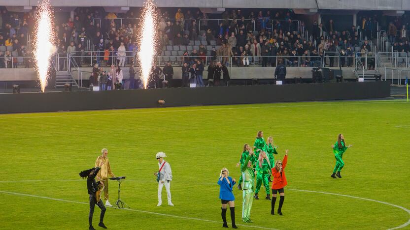
<path fill-rule="evenodd" d="M 113 173 L 127 176 L 121 198 L 132 209 L 108 208 L 108 229 L 221 229 L 220 169 L 239 179 L 242 146 L 258 130 L 279 146 L 275 159 L 290 150 L 284 215 L 272 216 L 270 201 L 261 199 L 253 203 L 254 223 L 242 223 L 235 188 L 240 229 L 410 229 L 409 106 L 338 101 L 0 115 L 0 229 L 88 229 L 86 181 L 78 173 L 104 147 Z M 354 146 L 343 155 L 343 178 L 332 179 L 330 146 L 339 133 Z M 158 151 L 171 164 L 174 207 L 165 189 L 156 206 Z M 115 181 L 109 190 L 114 203 Z M 97 229 L 99 213 L 96 207 Z"/>

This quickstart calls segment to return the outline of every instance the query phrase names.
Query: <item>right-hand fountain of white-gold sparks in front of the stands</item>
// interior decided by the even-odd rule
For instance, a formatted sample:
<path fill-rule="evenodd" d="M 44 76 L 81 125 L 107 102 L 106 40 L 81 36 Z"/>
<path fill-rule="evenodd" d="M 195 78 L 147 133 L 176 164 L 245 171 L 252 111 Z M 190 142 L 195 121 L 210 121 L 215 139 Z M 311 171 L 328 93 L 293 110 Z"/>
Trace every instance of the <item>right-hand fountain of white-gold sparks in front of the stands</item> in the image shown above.
<path fill-rule="evenodd" d="M 153 0 L 146 0 L 141 14 L 140 32 L 138 38 L 138 59 L 140 76 L 147 88 L 148 78 L 154 61 L 155 44 L 157 43 L 156 11 Z"/>

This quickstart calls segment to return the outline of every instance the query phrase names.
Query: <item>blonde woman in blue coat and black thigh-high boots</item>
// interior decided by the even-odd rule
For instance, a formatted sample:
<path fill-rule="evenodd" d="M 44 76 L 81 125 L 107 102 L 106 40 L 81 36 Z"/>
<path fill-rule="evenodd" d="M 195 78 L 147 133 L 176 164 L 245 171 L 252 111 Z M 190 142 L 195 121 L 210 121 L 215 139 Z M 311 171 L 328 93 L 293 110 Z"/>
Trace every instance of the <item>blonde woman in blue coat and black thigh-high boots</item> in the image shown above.
<path fill-rule="evenodd" d="M 231 209 L 231 220 L 232 220 L 232 228 L 238 229 L 235 225 L 235 197 L 232 193 L 232 189 L 236 180 L 229 176 L 229 171 L 226 168 L 221 170 L 219 174 L 218 184 L 220 186 L 219 189 L 219 199 L 221 199 L 222 203 L 222 220 L 224 224 L 222 227 L 228 228 L 228 224 L 226 223 L 226 206 L 229 204 L 229 208 Z"/>

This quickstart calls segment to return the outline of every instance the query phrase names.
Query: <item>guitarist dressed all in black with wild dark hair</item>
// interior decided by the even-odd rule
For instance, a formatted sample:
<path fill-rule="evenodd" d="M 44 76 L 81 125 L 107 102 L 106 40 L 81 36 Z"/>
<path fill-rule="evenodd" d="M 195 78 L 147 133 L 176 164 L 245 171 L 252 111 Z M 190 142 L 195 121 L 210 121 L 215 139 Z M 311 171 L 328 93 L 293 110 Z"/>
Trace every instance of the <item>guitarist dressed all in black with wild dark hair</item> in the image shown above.
<path fill-rule="evenodd" d="M 94 178 L 96 177 L 97 173 L 100 171 L 101 169 L 100 167 L 92 168 L 89 170 L 84 170 L 81 173 L 79 173 L 81 177 L 83 178 L 87 177 L 87 189 L 88 189 L 88 194 L 89 194 L 89 199 L 90 199 L 90 213 L 88 215 L 88 221 L 90 224 L 89 230 L 95 230 L 93 227 L 93 214 L 94 214 L 94 207 L 96 204 L 101 209 L 100 223 L 98 224 L 98 226 L 100 226 L 103 229 L 107 228 L 102 222 L 104 219 L 106 208 L 101 200 L 98 202 L 96 200 L 96 192 L 99 190 L 99 188 L 98 188 L 98 183 L 95 181 Z"/>

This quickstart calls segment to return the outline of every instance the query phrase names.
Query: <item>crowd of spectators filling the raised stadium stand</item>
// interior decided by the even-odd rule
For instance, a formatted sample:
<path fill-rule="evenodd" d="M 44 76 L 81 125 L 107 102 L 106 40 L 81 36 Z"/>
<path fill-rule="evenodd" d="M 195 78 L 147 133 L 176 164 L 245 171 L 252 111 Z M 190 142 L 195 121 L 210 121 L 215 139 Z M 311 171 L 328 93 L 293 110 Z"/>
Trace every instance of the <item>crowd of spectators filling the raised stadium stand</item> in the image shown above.
<path fill-rule="evenodd" d="M 338 31 L 333 20 L 324 24 L 296 21 L 288 10 L 231 9 L 209 18 L 199 9 L 160 9 L 156 42 L 160 64 L 167 61 L 189 67 L 201 60 L 204 64 L 225 66 L 334 66 L 340 57 L 342 66 L 351 66 L 355 53 L 373 51 L 371 40 L 384 29 L 394 51 L 410 52 L 407 26 L 409 18 L 397 17 L 384 28 L 377 28 L 381 18 L 361 16 L 356 26 Z M 127 13 L 104 12 L 99 7 L 76 8 L 74 17 L 56 20 L 59 53 L 75 57 L 78 65 L 112 64 L 124 67 L 136 64 L 139 9 Z M 57 13 L 56 13 L 57 14 Z M 214 16 L 215 17 L 215 16 Z M 0 13 L 0 67 L 19 62 L 32 65 L 29 34 L 34 25 L 33 11 Z M 401 29 L 398 29 L 401 28 Z M 306 31 L 311 36 L 305 36 Z M 359 54 L 360 55 L 360 54 Z M 178 58 L 170 58 L 175 56 Z M 183 57 L 183 58 L 181 58 Z M 338 58 L 336 58 L 338 57 Z M 4 65 L 3 65 L 4 62 Z M 231 63 L 232 62 L 232 63 Z M 64 62 L 62 62 L 64 64 Z M 64 66 L 63 66 L 64 67 Z"/>

